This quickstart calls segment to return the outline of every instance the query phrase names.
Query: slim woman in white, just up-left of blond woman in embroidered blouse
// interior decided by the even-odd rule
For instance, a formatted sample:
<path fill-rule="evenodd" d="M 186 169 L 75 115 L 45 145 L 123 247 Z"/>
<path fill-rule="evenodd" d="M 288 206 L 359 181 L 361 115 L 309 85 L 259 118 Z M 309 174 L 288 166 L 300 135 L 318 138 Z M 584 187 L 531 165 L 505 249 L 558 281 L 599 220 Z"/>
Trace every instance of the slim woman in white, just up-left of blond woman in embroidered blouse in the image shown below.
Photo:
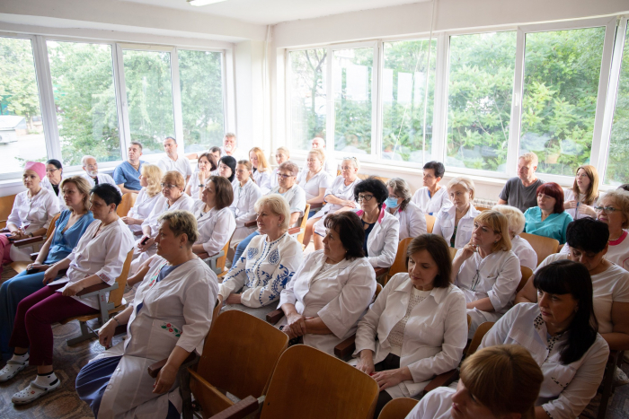
<path fill-rule="evenodd" d="M 262 196 L 262 192 L 252 178 L 252 163 L 246 160 L 238 161 L 236 179 L 232 182 L 234 188 L 234 202 L 229 207 L 234 213 L 236 229 L 232 242 L 236 243 L 255 231 L 254 227 L 245 227 L 245 223 L 255 220 L 254 205 Z"/>

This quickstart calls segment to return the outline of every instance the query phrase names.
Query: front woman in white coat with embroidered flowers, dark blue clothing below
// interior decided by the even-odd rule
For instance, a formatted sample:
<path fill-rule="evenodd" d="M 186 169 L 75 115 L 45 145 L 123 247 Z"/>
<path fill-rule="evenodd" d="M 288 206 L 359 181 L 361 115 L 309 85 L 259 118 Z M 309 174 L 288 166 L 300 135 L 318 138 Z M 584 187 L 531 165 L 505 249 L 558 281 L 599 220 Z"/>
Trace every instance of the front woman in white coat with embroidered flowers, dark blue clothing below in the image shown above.
<path fill-rule="evenodd" d="M 179 418 L 182 397 L 173 388 L 192 351 L 201 353 L 217 299 L 217 276 L 192 253 L 197 223 L 188 211 L 160 216 L 157 255 L 128 308 L 105 323 L 101 345 L 111 345 L 117 326 L 127 338 L 94 358 L 76 377 L 76 392 L 95 417 Z M 152 379 L 146 369 L 168 362 Z"/>

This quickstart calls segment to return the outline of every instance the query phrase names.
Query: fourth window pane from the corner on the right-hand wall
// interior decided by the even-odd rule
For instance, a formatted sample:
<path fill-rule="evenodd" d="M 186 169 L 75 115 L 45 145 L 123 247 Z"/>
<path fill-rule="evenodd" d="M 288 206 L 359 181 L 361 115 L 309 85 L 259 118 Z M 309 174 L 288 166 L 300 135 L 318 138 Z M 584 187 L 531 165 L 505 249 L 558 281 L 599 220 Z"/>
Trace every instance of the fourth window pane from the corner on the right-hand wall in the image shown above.
<path fill-rule="evenodd" d="M 448 166 L 506 171 L 515 31 L 450 37 Z"/>

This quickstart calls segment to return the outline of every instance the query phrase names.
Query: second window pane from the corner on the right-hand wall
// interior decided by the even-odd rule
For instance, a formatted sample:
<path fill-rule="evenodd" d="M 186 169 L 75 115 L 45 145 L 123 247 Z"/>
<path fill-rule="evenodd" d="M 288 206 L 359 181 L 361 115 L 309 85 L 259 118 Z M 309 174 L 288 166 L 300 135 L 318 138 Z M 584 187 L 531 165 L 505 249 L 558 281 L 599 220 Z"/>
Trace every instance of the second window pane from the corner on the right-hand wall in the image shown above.
<path fill-rule="evenodd" d="M 374 49 L 333 51 L 334 150 L 371 153 Z"/>

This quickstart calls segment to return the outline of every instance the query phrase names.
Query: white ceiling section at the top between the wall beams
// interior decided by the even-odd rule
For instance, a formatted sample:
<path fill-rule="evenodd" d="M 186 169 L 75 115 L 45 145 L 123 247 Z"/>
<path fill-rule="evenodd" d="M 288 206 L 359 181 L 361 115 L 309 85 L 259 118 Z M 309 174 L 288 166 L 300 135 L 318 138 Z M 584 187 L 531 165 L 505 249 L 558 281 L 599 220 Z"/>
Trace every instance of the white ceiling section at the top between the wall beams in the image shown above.
<path fill-rule="evenodd" d="M 151 4 L 188 12 L 208 13 L 243 22 L 264 25 L 297 21 L 359 10 L 378 9 L 430 0 L 227 0 L 223 3 L 192 6 L 186 0 L 122 0 Z"/>

